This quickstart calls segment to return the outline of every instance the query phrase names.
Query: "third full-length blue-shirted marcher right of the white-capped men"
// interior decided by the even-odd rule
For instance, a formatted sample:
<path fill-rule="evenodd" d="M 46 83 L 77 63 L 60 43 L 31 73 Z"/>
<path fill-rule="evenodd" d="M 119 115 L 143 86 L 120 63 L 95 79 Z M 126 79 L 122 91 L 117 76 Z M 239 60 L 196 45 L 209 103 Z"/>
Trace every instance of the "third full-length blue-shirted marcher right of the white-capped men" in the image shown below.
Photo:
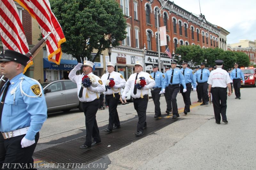
<path fill-rule="evenodd" d="M 187 115 L 190 112 L 190 93 L 191 89 L 196 90 L 196 79 L 193 74 L 193 70 L 187 68 L 188 62 L 182 61 L 182 68 L 180 69 L 182 75 L 184 76 L 187 92 L 183 92 L 183 85 L 180 85 L 180 92 L 183 96 L 185 103 L 184 114 Z"/>

